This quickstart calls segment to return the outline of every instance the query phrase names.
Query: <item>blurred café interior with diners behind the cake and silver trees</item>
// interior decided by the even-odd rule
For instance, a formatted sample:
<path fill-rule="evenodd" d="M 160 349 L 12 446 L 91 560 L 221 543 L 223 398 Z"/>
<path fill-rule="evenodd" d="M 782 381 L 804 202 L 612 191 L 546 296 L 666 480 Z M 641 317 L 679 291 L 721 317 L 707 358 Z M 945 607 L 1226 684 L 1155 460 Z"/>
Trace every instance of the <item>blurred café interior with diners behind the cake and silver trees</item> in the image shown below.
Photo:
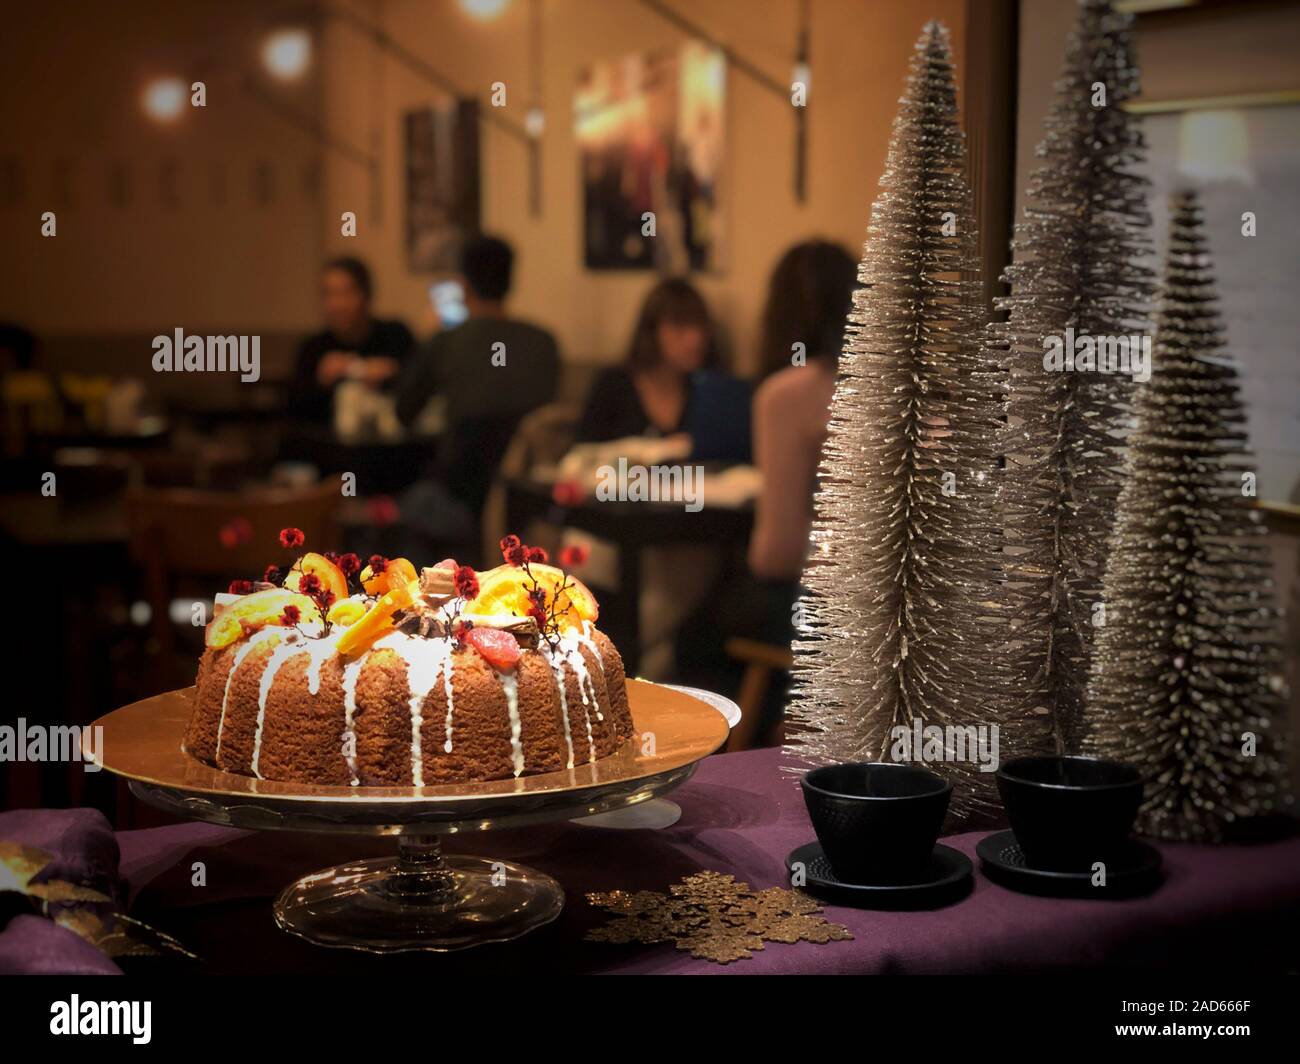
<path fill-rule="evenodd" d="M 1294 602 L 1300 5 L 1128 7 L 1154 233 L 1170 189 L 1202 190 Z M 930 17 L 952 30 L 992 298 L 1072 13 L 6 4 L 6 719 L 88 723 L 191 683 L 194 604 L 278 561 L 292 524 L 312 549 L 417 565 L 494 565 L 507 531 L 580 542 L 629 671 L 737 698 L 733 748 L 779 741 L 826 405 L 913 42 Z M 256 337 L 257 380 L 157 371 L 177 330 Z M 703 466 L 702 507 L 599 501 L 618 457 Z M 6 806 L 120 797 L 79 769 L 0 773 Z"/>

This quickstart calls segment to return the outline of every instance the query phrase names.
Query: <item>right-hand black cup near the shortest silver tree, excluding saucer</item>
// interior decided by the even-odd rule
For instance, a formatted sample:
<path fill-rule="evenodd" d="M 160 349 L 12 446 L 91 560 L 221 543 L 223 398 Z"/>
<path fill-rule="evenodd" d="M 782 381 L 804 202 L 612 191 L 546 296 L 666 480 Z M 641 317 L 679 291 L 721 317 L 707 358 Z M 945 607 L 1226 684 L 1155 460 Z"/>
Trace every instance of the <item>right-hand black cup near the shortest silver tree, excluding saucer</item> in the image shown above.
<path fill-rule="evenodd" d="M 1091 757 L 1018 757 L 997 790 L 1030 868 L 1086 871 L 1124 848 L 1141 805 L 1132 765 Z"/>

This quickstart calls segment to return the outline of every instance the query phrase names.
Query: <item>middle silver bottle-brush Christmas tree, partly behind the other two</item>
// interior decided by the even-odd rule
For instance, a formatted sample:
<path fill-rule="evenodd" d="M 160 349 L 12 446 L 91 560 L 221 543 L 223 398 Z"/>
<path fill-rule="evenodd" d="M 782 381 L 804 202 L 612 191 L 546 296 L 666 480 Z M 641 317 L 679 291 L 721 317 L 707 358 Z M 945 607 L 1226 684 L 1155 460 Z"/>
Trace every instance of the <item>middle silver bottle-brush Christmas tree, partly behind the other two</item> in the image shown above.
<path fill-rule="evenodd" d="M 1138 91 L 1131 17 L 1079 0 L 1056 91 L 1002 277 L 1009 317 L 989 343 L 1011 369 L 998 477 L 1010 635 L 996 654 L 1011 669 L 1008 697 L 1041 722 L 1037 743 L 1075 752 L 1132 379 L 1087 360 L 1057 369 L 1045 354 L 1144 325 L 1150 215 L 1135 166 L 1145 146 L 1121 107 Z"/>

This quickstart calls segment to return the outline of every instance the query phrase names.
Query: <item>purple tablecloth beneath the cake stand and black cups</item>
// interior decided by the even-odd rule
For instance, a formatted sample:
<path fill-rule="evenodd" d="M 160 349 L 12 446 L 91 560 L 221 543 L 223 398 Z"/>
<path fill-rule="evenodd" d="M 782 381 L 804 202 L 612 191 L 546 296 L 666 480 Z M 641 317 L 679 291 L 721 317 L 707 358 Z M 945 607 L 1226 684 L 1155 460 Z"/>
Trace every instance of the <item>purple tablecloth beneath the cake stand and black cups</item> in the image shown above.
<path fill-rule="evenodd" d="M 131 912 L 198 952 L 209 972 L 664 972 L 884 973 L 1024 972 L 1100 964 L 1240 965 L 1258 973 L 1296 959 L 1300 838 L 1254 847 L 1161 843 L 1165 882 L 1130 900 L 1061 900 L 1014 894 L 979 871 L 980 834 L 946 839 L 975 861 L 975 888 L 936 912 L 868 912 L 828 905 L 852 942 L 768 943 L 753 960 L 718 965 L 670 944 L 584 942 L 607 918 L 593 890 L 662 890 L 701 869 L 755 888 L 788 886 L 785 856 L 812 839 L 797 784 L 774 749 L 706 760 L 671 795 L 681 819 L 663 830 L 559 823 L 460 835 L 448 852 L 533 865 L 564 886 L 560 918 L 523 939 L 460 953 L 387 957 L 321 950 L 280 931 L 270 899 L 290 881 L 351 857 L 391 853 L 391 840 L 250 832 L 177 825 L 118 834 Z M 203 862 L 205 886 L 195 886 Z M 1261 968 L 1261 965 L 1264 968 Z M 1227 970 L 1232 970 L 1231 968 Z"/>

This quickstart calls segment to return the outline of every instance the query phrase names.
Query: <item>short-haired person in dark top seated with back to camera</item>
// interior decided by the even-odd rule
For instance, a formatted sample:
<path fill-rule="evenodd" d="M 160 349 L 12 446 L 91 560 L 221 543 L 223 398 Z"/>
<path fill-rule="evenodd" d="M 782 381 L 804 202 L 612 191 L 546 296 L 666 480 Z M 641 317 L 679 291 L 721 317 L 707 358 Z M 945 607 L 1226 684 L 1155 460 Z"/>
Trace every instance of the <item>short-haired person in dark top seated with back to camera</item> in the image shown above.
<path fill-rule="evenodd" d="M 555 337 L 507 311 L 514 267 L 506 241 L 469 238 L 460 256 L 465 320 L 439 320 L 445 328 L 421 345 L 396 384 L 396 415 L 406 425 L 430 399 L 445 405 L 436 479 L 402 503 L 403 518 L 439 542 L 477 541 L 474 525 L 515 429 L 559 386 Z"/>

